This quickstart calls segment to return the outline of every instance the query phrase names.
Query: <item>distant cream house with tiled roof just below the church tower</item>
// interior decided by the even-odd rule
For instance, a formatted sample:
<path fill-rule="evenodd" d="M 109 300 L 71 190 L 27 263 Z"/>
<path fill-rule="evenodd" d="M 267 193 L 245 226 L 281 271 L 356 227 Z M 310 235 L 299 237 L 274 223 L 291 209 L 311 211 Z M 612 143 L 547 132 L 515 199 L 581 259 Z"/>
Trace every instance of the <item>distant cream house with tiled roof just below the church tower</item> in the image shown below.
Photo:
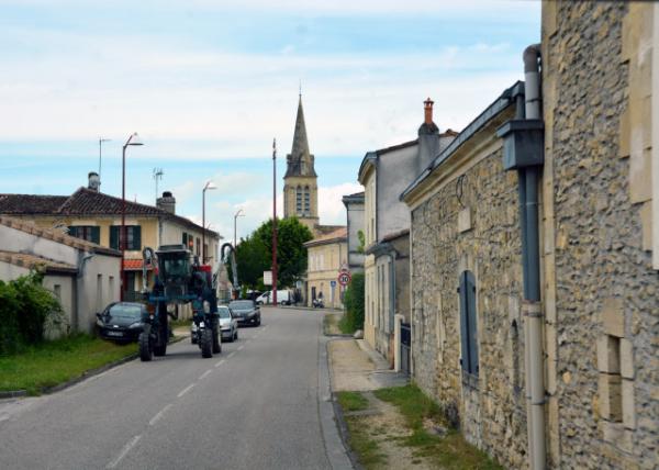
<path fill-rule="evenodd" d="M 343 288 L 336 279 L 348 262 L 348 230 L 339 226 L 304 244 L 306 248 L 306 303 L 322 298 L 326 307 L 343 307 Z"/>

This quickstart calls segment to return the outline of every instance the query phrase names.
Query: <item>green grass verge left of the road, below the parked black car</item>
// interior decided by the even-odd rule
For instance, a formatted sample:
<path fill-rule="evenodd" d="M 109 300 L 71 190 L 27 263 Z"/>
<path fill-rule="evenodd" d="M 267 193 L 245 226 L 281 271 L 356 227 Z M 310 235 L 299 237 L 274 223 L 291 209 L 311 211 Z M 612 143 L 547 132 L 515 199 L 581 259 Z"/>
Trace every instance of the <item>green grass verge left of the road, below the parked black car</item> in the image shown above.
<path fill-rule="evenodd" d="M 37 395 L 135 352 L 136 343 L 116 345 L 81 334 L 42 343 L 16 355 L 0 356 L 0 391 L 26 390 Z"/>

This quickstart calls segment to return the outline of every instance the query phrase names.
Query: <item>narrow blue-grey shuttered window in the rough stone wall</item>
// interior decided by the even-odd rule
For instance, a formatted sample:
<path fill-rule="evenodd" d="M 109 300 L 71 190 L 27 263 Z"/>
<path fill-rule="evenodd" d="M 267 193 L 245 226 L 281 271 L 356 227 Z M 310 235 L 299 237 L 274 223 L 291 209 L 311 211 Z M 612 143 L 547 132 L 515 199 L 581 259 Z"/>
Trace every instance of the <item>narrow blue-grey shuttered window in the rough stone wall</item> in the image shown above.
<path fill-rule="evenodd" d="M 478 329 L 476 323 L 476 280 L 471 271 L 460 275 L 460 365 L 467 373 L 478 377 Z"/>

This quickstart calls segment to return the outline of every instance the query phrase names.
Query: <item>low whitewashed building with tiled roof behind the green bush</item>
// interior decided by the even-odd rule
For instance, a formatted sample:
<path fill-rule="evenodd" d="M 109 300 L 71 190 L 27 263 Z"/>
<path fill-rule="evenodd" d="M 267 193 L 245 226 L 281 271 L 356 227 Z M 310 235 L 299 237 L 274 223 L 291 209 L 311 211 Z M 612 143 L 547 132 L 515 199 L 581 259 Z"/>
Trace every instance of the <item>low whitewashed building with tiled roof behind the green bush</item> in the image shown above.
<path fill-rule="evenodd" d="M 56 337 L 68 331 L 90 333 L 96 313 L 119 301 L 121 251 L 43 228 L 32 222 L 0 216 L 0 280 L 33 270 L 62 303 L 66 324 L 45 332 Z"/>

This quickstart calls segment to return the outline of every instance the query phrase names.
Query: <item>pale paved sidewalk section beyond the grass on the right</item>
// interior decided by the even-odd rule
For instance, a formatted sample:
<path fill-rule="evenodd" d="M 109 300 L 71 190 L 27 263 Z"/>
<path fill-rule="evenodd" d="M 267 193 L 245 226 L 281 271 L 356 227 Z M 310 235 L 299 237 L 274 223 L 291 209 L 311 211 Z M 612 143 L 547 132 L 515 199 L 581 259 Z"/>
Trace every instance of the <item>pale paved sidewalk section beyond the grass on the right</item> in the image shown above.
<path fill-rule="evenodd" d="M 382 356 L 364 339 L 334 339 L 327 343 L 332 391 L 370 391 L 407 384 L 407 377 L 394 372 Z"/>

